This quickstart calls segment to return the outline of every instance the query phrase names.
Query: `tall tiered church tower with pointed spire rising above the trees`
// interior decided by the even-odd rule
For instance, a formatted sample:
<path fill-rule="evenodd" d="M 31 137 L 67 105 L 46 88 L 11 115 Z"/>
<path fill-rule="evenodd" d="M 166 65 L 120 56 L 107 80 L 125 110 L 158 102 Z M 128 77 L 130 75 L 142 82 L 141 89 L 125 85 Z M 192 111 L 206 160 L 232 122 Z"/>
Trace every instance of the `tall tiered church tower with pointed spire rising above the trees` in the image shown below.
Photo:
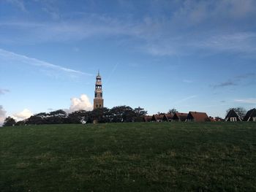
<path fill-rule="evenodd" d="M 100 77 L 99 72 L 96 77 L 95 92 L 94 92 L 94 110 L 97 108 L 103 108 L 102 77 Z"/>

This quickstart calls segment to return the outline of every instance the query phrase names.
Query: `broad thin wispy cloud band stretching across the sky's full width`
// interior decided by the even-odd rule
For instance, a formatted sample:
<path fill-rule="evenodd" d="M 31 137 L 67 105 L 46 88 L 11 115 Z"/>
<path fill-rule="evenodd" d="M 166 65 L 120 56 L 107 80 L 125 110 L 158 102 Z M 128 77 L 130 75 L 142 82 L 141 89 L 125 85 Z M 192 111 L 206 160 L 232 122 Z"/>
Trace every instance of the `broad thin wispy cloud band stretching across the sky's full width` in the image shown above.
<path fill-rule="evenodd" d="M 91 23 L 94 20 L 94 23 Z M 157 23 L 160 22 L 160 23 Z M 4 28 L 17 28 L 18 31 L 27 31 L 23 39 L 19 37 L 6 37 L 2 42 L 70 42 L 90 37 L 125 37 L 123 40 L 134 40 L 136 50 L 151 55 L 187 55 L 197 50 L 203 52 L 229 52 L 229 53 L 256 53 L 256 33 L 235 32 L 225 34 L 222 31 L 196 32 L 192 34 L 178 33 L 174 30 L 170 20 L 141 21 L 118 20 L 116 18 L 102 18 L 99 15 L 91 15 L 83 20 L 64 20 L 61 23 L 34 23 L 28 21 L 0 22 Z M 168 34 L 165 28 L 170 28 Z M 8 36 L 8 35 L 7 35 Z M 131 39 L 129 39 L 131 38 Z M 122 38 L 121 38 L 122 39 Z M 25 42 L 24 42 L 25 41 Z"/>

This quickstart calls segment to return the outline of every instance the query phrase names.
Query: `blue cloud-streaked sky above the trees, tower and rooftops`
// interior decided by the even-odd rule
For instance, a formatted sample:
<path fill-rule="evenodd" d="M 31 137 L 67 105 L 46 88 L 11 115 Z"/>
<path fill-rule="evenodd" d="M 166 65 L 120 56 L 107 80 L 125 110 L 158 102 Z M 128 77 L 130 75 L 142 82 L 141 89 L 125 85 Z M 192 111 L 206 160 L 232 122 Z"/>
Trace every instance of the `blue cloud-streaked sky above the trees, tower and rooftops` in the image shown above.
<path fill-rule="evenodd" d="M 105 107 L 256 107 L 255 0 L 0 0 L 0 123 Z"/>

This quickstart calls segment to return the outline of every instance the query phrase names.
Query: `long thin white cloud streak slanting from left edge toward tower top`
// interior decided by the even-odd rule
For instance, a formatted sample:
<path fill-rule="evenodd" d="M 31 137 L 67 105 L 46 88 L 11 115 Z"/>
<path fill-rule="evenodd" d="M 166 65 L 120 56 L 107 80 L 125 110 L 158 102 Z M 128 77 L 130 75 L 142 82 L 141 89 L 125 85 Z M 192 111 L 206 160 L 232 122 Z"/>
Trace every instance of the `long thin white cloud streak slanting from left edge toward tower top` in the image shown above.
<path fill-rule="evenodd" d="M 80 72 L 78 70 L 69 69 L 63 66 L 50 64 L 45 61 L 40 61 L 37 58 L 29 58 L 26 55 L 20 55 L 20 54 L 13 53 L 7 50 L 2 50 L 2 49 L 0 49 L 0 57 L 7 59 L 8 61 L 18 61 L 20 64 L 29 64 L 33 66 L 39 66 L 46 69 L 53 69 L 55 71 L 67 72 L 68 74 L 82 74 L 82 75 L 90 75 L 90 76 L 92 75 L 89 73 Z"/>

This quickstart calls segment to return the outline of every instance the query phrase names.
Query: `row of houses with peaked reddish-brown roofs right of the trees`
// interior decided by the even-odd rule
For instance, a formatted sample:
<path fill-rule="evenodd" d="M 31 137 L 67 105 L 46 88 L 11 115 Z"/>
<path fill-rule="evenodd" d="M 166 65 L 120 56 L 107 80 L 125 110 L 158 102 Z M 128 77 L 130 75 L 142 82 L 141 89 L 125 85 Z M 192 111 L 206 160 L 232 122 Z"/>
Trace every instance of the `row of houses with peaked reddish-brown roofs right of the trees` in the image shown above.
<path fill-rule="evenodd" d="M 244 116 L 244 121 L 256 121 L 256 109 L 249 110 Z M 206 112 L 176 112 L 174 114 L 159 114 L 144 117 L 145 122 L 162 122 L 162 121 L 194 121 L 194 122 L 206 122 L 206 121 L 242 121 L 239 115 L 230 110 L 225 117 L 225 120 L 221 118 L 208 117 Z"/>

